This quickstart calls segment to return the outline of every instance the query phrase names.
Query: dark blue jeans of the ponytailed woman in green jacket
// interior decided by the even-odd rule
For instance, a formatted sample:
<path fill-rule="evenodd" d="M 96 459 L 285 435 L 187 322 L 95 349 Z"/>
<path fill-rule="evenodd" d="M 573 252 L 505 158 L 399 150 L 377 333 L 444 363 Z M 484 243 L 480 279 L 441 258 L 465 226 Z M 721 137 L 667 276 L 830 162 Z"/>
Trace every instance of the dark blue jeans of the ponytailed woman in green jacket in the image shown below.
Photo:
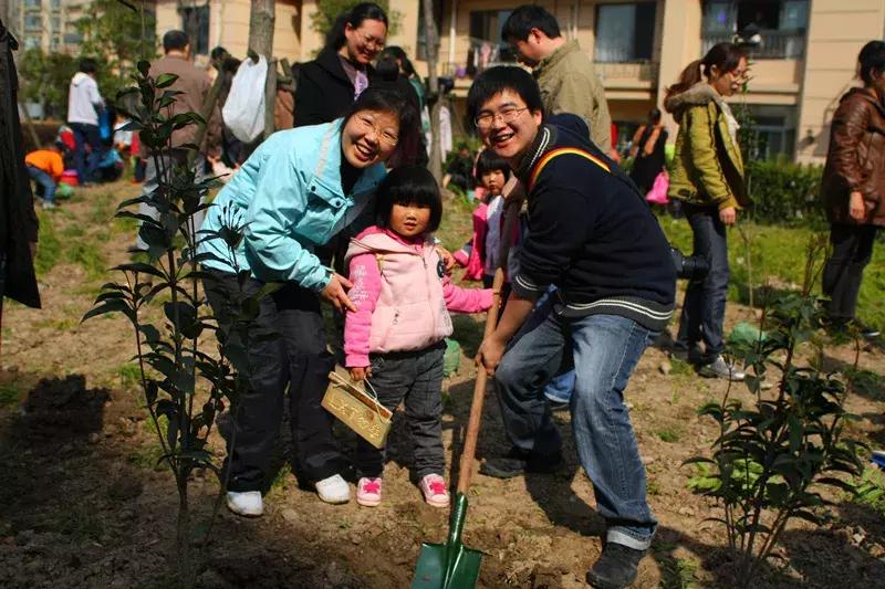
<path fill-rule="evenodd" d="M 694 255 L 702 255 L 710 271 L 704 278 L 688 283 L 676 345 L 694 353 L 704 341 L 704 354 L 698 359 L 709 364 L 725 349 L 722 329 L 730 276 L 726 225 L 716 207 L 684 203 L 683 211 L 694 233 Z"/>

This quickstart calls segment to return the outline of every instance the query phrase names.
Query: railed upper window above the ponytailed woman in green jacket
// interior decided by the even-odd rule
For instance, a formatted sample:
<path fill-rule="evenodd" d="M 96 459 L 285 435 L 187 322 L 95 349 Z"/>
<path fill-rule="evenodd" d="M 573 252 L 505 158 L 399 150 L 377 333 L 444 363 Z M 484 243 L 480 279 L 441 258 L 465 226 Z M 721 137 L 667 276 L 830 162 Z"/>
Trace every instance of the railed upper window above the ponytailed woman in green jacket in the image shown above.
<path fill-rule="evenodd" d="M 756 59 L 799 59 L 805 50 L 808 0 L 707 0 L 704 51 L 742 43 Z"/>

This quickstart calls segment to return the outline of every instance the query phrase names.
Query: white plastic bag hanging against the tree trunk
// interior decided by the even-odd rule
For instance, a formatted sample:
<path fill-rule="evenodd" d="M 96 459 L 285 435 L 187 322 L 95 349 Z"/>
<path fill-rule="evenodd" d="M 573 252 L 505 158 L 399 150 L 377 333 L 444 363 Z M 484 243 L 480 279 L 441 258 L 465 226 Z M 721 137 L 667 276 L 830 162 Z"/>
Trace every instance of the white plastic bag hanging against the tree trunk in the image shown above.
<path fill-rule="evenodd" d="M 268 61 L 260 55 L 258 63 L 243 60 L 230 93 L 221 109 L 225 125 L 239 140 L 252 143 L 264 130 L 264 81 L 268 77 Z"/>

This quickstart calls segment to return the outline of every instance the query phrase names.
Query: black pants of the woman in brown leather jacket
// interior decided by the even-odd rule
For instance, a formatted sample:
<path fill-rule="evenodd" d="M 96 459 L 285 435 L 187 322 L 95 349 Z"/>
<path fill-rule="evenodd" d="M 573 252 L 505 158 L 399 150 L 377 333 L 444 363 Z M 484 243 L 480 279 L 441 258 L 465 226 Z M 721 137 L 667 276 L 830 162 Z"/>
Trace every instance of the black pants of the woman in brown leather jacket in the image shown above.
<path fill-rule="evenodd" d="M 830 243 L 833 251 L 823 269 L 823 294 L 830 297 L 832 319 L 853 319 L 864 267 L 873 256 L 875 225 L 833 224 Z"/>

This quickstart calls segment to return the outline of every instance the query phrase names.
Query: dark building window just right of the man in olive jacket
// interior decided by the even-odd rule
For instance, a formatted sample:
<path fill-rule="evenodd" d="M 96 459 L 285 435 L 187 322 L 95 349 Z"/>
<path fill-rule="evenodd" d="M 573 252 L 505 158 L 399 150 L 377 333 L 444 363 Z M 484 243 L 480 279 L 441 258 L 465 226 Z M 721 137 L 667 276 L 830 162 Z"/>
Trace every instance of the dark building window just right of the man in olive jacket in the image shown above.
<path fill-rule="evenodd" d="M 594 60 L 604 63 L 649 61 L 656 10 L 654 2 L 596 7 Z"/>

